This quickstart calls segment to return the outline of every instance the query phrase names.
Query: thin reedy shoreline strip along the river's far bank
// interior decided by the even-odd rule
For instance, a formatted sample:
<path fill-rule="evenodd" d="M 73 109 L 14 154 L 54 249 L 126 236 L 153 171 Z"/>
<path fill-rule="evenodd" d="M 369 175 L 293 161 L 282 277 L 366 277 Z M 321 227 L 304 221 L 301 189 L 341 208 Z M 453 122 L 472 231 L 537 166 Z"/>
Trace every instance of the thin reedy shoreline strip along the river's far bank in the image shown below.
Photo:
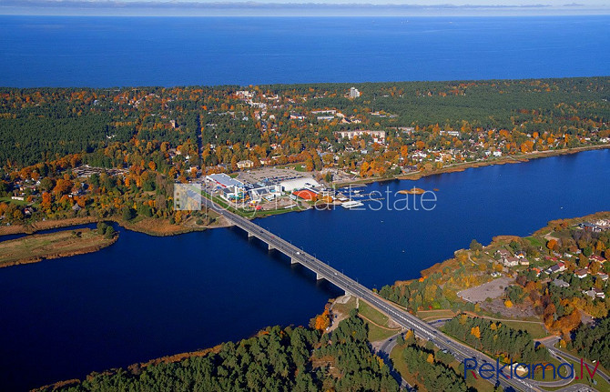
<path fill-rule="evenodd" d="M 384 181 L 394 181 L 394 180 L 416 181 L 425 176 L 436 176 L 436 175 L 441 175 L 441 174 L 445 174 L 445 173 L 458 173 L 458 172 L 463 172 L 466 169 L 470 169 L 470 168 L 495 166 L 495 165 L 520 164 L 520 163 L 524 163 L 524 162 L 529 162 L 532 159 L 542 159 L 542 158 L 547 158 L 547 157 L 552 157 L 552 156 L 567 156 L 567 155 L 572 155 L 572 154 L 578 154 L 578 153 L 585 152 L 585 151 L 604 150 L 604 149 L 610 149 L 610 144 L 597 145 L 597 146 L 582 146 L 582 147 L 567 148 L 567 149 L 562 149 L 562 150 L 536 151 L 533 153 L 521 154 L 521 155 L 516 155 L 516 156 L 502 156 L 500 158 L 493 159 L 491 161 L 463 162 L 463 163 L 459 163 L 459 164 L 454 164 L 452 166 L 442 167 L 440 169 L 432 170 L 430 172 L 425 172 L 425 173 L 423 173 L 422 171 L 417 171 L 417 172 L 413 172 L 413 173 L 406 174 L 406 175 L 391 176 L 391 177 L 387 177 L 387 178 L 381 178 L 381 177 L 362 178 L 360 180 L 333 183 L 332 186 L 336 186 L 336 187 L 344 187 L 344 186 L 351 186 L 351 185 L 366 186 L 366 185 L 370 185 L 373 183 L 381 183 Z M 295 211 L 294 210 L 285 210 L 285 211 L 278 210 L 278 211 L 274 212 L 273 214 L 254 216 L 254 218 L 275 216 L 275 215 L 279 215 L 279 214 L 288 214 L 290 212 L 295 212 Z M 297 210 L 296 212 L 300 212 L 300 210 Z M 158 221 L 158 218 L 149 218 L 149 219 L 153 219 L 152 220 L 153 222 Z M 97 222 L 101 222 L 101 221 L 114 222 L 118 226 L 121 226 L 127 230 L 136 231 L 138 233 L 143 233 L 148 236 L 178 236 L 181 234 L 187 234 L 187 233 L 192 233 L 192 232 L 196 232 L 196 231 L 205 231 L 205 230 L 213 229 L 213 228 L 232 226 L 232 225 L 226 224 L 224 222 L 219 223 L 218 225 L 210 225 L 210 226 L 176 226 L 176 225 L 170 225 L 168 222 L 167 223 L 164 222 L 166 227 L 170 226 L 169 230 L 165 231 L 165 230 L 150 229 L 149 227 L 148 228 L 142 227 L 143 225 L 138 226 L 138 224 L 147 221 L 146 219 L 138 221 L 136 223 L 131 223 L 131 222 L 125 222 L 122 219 L 119 219 L 117 217 L 97 218 L 94 216 L 85 216 L 85 217 L 80 217 L 80 218 L 76 217 L 76 218 L 66 218 L 66 219 L 58 219 L 58 220 L 39 221 L 39 222 L 35 222 L 32 225 L 28 225 L 28 226 L 26 226 L 26 225 L 0 226 L 0 240 L 2 240 L 2 236 L 7 236 L 7 235 L 36 234 L 36 232 L 38 232 L 38 231 L 51 230 L 51 229 L 63 228 L 63 227 L 71 227 L 71 226 L 80 226 L 80 225 L 86 225 L 86 224 L 91 224 L 91 223 L 97 223 Z M 148 220 L 147 222 L 150 222 L 150 221 Z"/>

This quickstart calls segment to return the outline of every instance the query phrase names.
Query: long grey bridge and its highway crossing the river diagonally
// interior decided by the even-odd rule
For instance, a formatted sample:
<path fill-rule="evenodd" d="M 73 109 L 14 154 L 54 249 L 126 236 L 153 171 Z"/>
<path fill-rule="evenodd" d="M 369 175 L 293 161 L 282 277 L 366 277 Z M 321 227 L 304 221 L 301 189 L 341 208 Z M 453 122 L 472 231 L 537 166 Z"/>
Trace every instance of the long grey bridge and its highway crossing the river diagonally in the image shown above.
<path fill-rule="evenodd" d="M 373 293 L 366 286 L 361 285 L 359 282 L 353 280 L 351 277 L 344 275 L 341 271 L 323 263 L 315 256 L 304 252 L 297 246 L 293 246 L 290 242 L 275 236 L 259 225 L 251 222 L 242 216 L 234 214 L 222 206 L 209 200 L 207 197 L 202 197 L 202 205 L 205 205 L 209 209 L 213 210 L 219 216 L 224 216 L 231 224 L 238 226 L 242 230 L 248 233 L 249 237 L 259 238 L 260 241 L 266 243 L 269 246 L 269 250 L 276 249 L 290 257 L 291 264 L 300 264 L 313 273 L 316 274 L 317 279 L 326 279 L 333 285 L 341 288 L 346 294 L 358 297 L 361 300 L 366 301 L 372 307 L 375 307 L 381 313 L 390 317 L 395 323 L 406 329 L 412 329 L 419 337 L 426 338 L 440 349 L 445 349 L 455 357 L 458 362 L 462 362 L 465 358 L 475 358 L 479 366 L 484 362 L 495 364 L 495 359 L 487 357 L 483 353 L 471 348 L 464 346 L 462 343 L 447 337 L 442 334 L 437 328 L 432 327 L 425 321 L 413 316 L 408 311 L 404 310 L 385 298 Z M 495 381 L 495 377 L 491 380 Z M 539 382 L 532 379 L 520 379 L 499 377 L 500 385 L 504 390 L 526 390 L 526 391 L 539 391 L 539 387 L 564 387 L 572 380 L 555 380 L 551 382 Z M 566 389 L 567 390 L 567 389 Z"/>

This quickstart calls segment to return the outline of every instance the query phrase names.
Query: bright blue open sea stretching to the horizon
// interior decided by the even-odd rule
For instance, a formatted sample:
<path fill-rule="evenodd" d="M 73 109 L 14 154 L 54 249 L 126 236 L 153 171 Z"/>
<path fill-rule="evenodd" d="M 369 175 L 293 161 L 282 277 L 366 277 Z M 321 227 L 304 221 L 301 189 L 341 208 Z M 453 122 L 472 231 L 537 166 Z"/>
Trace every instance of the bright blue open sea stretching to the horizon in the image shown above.
<path fill-rule="evenodd" d="M 0 16 L 0 85 L 609 75 L 610 16 Z"/>

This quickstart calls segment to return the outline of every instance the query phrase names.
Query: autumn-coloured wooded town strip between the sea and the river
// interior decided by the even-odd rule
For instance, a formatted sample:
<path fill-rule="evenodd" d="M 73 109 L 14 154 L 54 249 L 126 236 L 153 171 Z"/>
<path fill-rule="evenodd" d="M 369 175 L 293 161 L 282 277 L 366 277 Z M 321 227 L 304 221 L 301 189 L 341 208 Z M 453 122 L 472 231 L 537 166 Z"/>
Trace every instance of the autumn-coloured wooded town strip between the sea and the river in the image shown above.
<path fill-rule="evenodd" d="M 348 97 L 351 86 L 360 97 Z M 300 162 L 332 181 L 320 170 L 390 178 L 498 156 L 606 146 L 609 87 L 609 77 L 0 87 L 0 216 L 11 225 L 82 216 L 180 224 L 209 217 L 174 211 L 170 185 L 233 173 L 244 160 L 254 168 Z M 333 115 L 320 119 L 325 110 Z M 385 137 L 340 136 L 349 130 Z M 79 176 L 82 166 L 95 167 L 98 177 Z M 417 290 L 423 297 L 408 306 L 437 306 L 425 296 L 432 289 Z M 446 301 L 454 303 L 445 296 L 443 307 Z"/>

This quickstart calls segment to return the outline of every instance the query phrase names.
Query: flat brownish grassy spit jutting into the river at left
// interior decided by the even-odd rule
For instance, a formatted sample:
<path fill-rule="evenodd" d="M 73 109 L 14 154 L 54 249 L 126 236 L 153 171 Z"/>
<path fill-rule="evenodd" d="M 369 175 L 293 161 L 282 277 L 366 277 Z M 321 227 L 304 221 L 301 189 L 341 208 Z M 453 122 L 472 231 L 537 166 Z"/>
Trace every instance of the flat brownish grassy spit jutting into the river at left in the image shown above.
<path fill-rule="evenodd" d="M 0 242 L 0 268 L 97 252 L 117 239 L 117 234 L 108 238 L 89 228 L 12 239 Z"/>

